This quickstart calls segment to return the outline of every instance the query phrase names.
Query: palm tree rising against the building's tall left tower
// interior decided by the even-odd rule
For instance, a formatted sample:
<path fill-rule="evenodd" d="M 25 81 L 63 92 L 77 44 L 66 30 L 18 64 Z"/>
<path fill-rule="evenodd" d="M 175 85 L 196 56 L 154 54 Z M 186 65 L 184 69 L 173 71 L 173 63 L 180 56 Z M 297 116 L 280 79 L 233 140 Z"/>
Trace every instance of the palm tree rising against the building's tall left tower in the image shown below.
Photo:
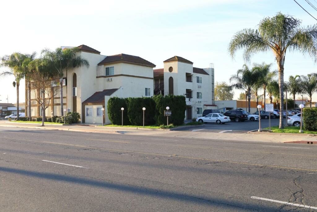
<path fill-rule="evenodd" d="M 54 66 L 56 75 L 60 79 L 60 95 L 61 95 L 61 116 L 64 115 L 63 111 L 63 76 L 64 72 L 67 72 L 69 68 L 77 68 L 81 66 L 89 67 L 89 62 L 87 59 L 76 56 L 76 53 L 80 49 L 75 48 L 66 48 L 61 49 L 57 48 L 55 51 L 50 51 L 45 49 L 42 51 L 43 57 L 50 60 Z"/>

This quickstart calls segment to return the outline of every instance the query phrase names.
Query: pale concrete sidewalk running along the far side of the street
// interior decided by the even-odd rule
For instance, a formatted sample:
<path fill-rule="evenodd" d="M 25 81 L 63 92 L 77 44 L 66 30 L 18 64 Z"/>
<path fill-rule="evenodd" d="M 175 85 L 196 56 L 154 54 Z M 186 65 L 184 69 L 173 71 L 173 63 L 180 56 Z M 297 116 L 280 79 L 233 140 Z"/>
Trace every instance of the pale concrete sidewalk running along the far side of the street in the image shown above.
<path fill-rule="evenodd" d="M 257 142 L 275 142 L 283 143 L 290 141 L 317 141 L 317 136 L 308 134 L 283 134 L 283 133 L 265 133 L 265 134 L 248 134 L 248 133 L 217 133 L 217 132 L 192 132 L 192 131 L 163 131 L 151 129 L 131 129 L 130 127 L 94 127 L 82 125 L 70 126 L 45 126 L 26 125 L 18 123 L 5 123 L 0 121 L 0 127 L 22 127 L 36 128 L 46 130 L 65 130 L 87 133 L 112 133 L 112 134 L 131 134 L 131 135 L 146 135 L 146 136 L 165 136 L 177 138 L 195 138 L 195 139 L 213 139 L 213 140 L 235 140 L 235 141 L 257 141 Z"/>

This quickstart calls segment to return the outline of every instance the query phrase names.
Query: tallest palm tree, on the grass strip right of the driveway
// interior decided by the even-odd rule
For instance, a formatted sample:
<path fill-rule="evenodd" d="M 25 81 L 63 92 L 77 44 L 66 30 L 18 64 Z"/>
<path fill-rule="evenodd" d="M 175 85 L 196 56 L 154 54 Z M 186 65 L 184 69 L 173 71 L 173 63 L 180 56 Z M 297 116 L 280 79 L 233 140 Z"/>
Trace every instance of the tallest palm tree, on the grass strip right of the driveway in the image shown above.
<path fill-rule="evenodd" d="M 286 51 L 308 53 L 317 61 L 317 25 L 301 27 L 301 21 L 281 12 L 274 17 L 262 19 L 258 30 L 244 29 L 237 32 L 230 41 L 228 50 L 232 58 L 237 50 L 244 49 L 243 58 L 250 61 L 253 54 L 272 51 L 277 63 L 280 89 L 280 110 L 283 110 L 284 62 Z M 280 126 L 284 128 L 283 117 Z"/>

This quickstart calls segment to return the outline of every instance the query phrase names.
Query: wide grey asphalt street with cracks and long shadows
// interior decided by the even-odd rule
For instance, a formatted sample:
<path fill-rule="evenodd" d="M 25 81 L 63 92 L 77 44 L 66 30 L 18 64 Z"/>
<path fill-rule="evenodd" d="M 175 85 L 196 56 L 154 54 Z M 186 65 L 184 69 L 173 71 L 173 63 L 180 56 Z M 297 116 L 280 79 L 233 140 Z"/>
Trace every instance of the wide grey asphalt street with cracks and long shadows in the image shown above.
<path fill-rule="evenodd" d="M 1 211 L 317 207 L 317 145 L 13 127 L 0 144 Z"/>

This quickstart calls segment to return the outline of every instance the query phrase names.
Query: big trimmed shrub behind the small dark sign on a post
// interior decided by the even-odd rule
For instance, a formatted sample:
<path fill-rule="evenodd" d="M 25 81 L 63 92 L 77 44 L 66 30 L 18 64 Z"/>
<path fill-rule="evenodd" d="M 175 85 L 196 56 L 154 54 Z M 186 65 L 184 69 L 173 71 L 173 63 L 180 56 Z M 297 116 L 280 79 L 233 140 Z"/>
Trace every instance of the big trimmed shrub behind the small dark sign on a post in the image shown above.
<path fill-rule="evenodd" d="M 167 117 L 164 116 L 166 106 L 169 106 L 172 112 L 172 115 L 168 118 L 169 123 L 176 126 L 184 123 L 186 111 L 186 100 L 184 96 L 156 95 L 153 99 L 156 105 L 155 121 L 157 125 L 167 124 Z"/>

